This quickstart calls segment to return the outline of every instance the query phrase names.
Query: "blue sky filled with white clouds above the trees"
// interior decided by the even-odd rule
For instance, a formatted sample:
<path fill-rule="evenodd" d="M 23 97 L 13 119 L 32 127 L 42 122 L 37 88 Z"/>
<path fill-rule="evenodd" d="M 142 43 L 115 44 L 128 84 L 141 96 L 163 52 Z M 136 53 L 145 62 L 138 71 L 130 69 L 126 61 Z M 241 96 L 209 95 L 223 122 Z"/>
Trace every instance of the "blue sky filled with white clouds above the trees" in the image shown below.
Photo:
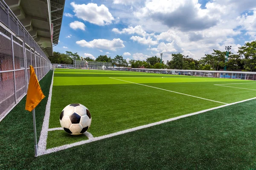
<path fill-rule="evenodd" d="M 54 51 L 95 59 L 194 59 L 256 39 L 255 0 L 66 0 Z"/>

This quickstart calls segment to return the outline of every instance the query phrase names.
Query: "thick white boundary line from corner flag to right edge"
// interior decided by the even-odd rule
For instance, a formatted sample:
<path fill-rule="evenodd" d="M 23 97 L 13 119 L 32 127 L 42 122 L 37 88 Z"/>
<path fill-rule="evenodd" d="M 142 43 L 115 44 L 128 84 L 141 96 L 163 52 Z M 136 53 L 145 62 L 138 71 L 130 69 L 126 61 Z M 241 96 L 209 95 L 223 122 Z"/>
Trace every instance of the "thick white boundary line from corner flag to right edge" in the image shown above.
<path fill-rule="evenodd" d="M 110 138 L 110 137 L 113 137 L 113 136 L 133 132 L 133 131 L 144 129 L 144 128 L 147 128 L 147 127 L 160 125 L 160 124 L 163 124 L 163 123 L 166 123 L 166 122 L 171 122 L 171 121 L 181 119 L 181 118 L 184 118 L 184 117 L 189 117 L 189 116 L 204 113 L 204 112 L 207 112 L 207 111 L 212 111 L 212 110 L 215 110 L 215 109 L 218 109 L 218 108 L 224 108 L 224 107 L 227 107 L 227 106 L 230 106 L 230 105 L 235 105 L 237 103 L 246 102 L 246 101 L 253 100 L 253 99 L 256 99 L 256 97 L 251 98 L 251 99 L 242 100 L 242 101 L 239 101 L 239 102 L 233 102 L 233 103 L 230 103 L 230 104 L 227 104 L 227 105 L 221 105 L 221 106 L 218 106 L 218 107 L 215 107 L 215 108 L 209 108 L 209 109 L 206 109 L 206 110 L 203 110 L 203 111 L 198 111 L 198 112 L 195 112 L 195 113 L 190 113 L 190 114 L 174 117 L 174 118 L 171 118 L 171 119 L 162 120 L 162 121 L 159 121 L 159 122 L 154 122 L 154 123 L 151 123 L 151 124 L 148 124 L 148 125 L 142 125 L 142 126 L 134 127 L 134 128 L 131 128 L 131 129 L 122 130 L 122 131 L 111 133 L 111 134 L 104 135 L 104 136 L 93 137 L 93 138 L 90 138 L 88 140 L 79 141 L 79 142 L 76 142 L 76 143 L 73 143 L 73 144 L 65 144 L 63 146 L 53 147 L 53 148 L 45 150 L 43 153 L 41 153 L 38 156 L 49 154 L 49 153 L 52 153 L 52 152 L 57 152 L 59 150 L 65 150 L 67 148 L 74 147 L 74 146 L 79 146 L 79 145 L 85 144 L 85 143 L 90 143 L 90 142 L 95 142 L 95 141 L 99 141 L 99 140 L 102 140 L 102 139 L 107 139 L 107 138 Z"/>

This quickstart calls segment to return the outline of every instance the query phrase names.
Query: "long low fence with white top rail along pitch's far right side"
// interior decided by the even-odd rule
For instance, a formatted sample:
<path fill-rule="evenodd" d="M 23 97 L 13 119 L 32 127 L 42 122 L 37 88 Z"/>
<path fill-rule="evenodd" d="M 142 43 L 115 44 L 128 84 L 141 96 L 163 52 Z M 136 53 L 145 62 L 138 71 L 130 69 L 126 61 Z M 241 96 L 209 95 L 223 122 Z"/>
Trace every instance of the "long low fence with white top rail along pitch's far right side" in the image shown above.
<path fill-rule="evenodd" d="M 256 80 L 256 72 L 245 72 L 245 71 L 173 70 L 173 69 L 149 69 L 149 68 L 132 68 L 131 71 L 157 73 L 157 74 L 184 75 L 184 76 Z"/>

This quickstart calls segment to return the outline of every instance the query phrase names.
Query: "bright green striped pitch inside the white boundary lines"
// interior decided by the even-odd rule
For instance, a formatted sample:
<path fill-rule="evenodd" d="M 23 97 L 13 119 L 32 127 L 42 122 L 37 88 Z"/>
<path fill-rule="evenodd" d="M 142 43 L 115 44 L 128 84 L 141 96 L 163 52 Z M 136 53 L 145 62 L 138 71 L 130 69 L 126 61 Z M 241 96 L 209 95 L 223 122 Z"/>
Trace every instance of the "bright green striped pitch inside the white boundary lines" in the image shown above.
<path fill-rule="evenodd" d="M 88 137 L 109 134 L 115 136 L 116 132 L 125 133 L 123 131 L 134 127 L 255 96 L 256 84 L 253 81 L 124 71 L 56 69 L 46 149 L 50 153 L 63 149 L 63 145 L 71 147 L 74 142 L 85 141 Z M 71 103 L 80 103 L 90 110 L 92 124 L 87 130 L 89 135 L 71 136 L 60 128 L 60 113 Z M 83 142 L 75 145 L 79 144 Z"/>

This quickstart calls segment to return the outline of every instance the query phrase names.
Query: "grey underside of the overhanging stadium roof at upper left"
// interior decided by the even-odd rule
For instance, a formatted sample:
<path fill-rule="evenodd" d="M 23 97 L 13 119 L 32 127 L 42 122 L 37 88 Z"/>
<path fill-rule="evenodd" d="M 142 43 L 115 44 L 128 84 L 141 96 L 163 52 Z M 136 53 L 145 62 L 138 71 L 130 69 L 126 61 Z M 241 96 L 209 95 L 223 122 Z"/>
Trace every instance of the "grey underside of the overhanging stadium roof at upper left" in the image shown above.
<path fill-rule="evenodd" d="M 52 56 L 52 46 L 58 44 L 65 0 L 5 0 L 5 2 L 45 54 Z M 51 35 L 51 23 L 53 35 Z"/>

